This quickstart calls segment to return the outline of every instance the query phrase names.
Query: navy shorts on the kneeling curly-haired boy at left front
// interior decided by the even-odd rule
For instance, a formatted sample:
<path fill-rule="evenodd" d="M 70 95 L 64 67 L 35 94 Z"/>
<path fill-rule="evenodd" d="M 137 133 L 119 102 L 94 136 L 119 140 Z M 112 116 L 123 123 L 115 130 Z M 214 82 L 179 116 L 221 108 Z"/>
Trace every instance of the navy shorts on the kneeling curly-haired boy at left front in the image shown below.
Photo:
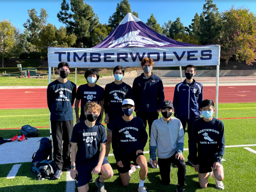
<path fill-rule="evenodd" d="M 96 158 L 93 162 L 89 162 L 88 164 L 85 165 L 77 165 L 76 164 L 76 170 L 78 172 L 78 176 L 77 176 L 77 187 L 81 187 L 86 185 L 89 182 L 92 182 L 92 170 L 94 169 L 94 167 L 97 166 L 99 159 Z M 103 160 L 102 165 L 104 164 L 108 164 L 107 160 Z M 101 173 L 99 173 L 99 175 L 101 175 Z"/>

